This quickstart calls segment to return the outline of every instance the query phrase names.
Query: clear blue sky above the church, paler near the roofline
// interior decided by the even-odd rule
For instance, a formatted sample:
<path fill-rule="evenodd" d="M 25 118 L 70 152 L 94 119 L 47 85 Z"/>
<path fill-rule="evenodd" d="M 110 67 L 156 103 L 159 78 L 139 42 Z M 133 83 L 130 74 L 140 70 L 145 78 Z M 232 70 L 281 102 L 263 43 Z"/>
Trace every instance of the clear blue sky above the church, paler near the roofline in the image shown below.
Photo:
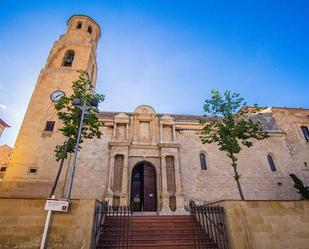
<path fill-rule="evenodd" d="M 0 138 L 14 145 L 31 93 L 73 14 L 102 29 L 101 110 L 203 114 L 211 89 L 309 108 L 309 1 L 0 0 Z"/>

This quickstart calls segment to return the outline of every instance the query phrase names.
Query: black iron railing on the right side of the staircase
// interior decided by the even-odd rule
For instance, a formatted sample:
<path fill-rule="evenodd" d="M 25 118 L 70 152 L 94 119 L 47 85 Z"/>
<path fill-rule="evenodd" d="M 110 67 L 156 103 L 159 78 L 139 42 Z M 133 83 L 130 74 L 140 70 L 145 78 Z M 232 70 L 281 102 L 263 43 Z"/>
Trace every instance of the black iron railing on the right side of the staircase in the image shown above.
<path fill-rule="evenodd" d="M 194 201 L 190 201 L 190 211 L 194 224 L 196 249 L 229 249 L 222 206 L 197 206 Z"/>

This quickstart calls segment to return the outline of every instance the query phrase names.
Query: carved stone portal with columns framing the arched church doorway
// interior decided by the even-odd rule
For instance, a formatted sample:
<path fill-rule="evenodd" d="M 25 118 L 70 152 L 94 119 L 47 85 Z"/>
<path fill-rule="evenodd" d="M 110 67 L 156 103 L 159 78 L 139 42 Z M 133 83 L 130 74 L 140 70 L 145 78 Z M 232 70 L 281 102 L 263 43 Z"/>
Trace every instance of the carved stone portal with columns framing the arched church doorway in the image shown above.
<path fill-rule="evenodd" d="M 174 119 L 158 117 L 152 107 L 141 105 L 130 116 L 120 113 L 113 121 L 106 199 L 116 206 L 136 201 L 145 207 L 148 197 L 156 196 L 155 210 L 160 214 L 185 213 Z M 145 193 L 147 189 L 156 190 L 155 194 L 147 192 L 147 198 L 131 196 L 133 168 L 141 162 L 151 164 L 156 172 L 155 181 L 142 182 Z M 154 183 L 156 186 L 149 185 Z"/>

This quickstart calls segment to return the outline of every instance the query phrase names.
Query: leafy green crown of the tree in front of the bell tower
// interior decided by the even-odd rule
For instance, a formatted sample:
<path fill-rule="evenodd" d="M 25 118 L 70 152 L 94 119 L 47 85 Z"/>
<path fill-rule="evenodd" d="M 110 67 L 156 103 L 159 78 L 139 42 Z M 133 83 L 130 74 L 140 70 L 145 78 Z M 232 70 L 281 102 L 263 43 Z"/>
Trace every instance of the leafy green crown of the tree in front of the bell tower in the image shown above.
<path fill-rule="evenodd" d="M 93 102 L 104 101 L 104 96 L 95 93 L 94 86 L 89 80 L 88 73 L 83 70 L 79 70 L 78 80 L 73 82 L 73 93 L 71 96 L 63 96 L 55 104 L 57 110 L 58 119 L 62 121 L 62 127 L 59 129 L 61 133 L 68 139 L 61 145 L 57 145 L 55 148 L 56 160 L 67 158 L 67 153 L 74 153 L 78 136 L 78 128 L 80 125 L 80 119 L 82 114 L 82 105 L 86 101 L 87 111 L 83 122 L 82 134 L 80 144 L 84 139 L 91 139 L 94 137 L 100 138 L 102 132 L 100 127 L 103 126 L 103 122 L 98 119 L 97 108 L 90 108 Z M 81 105 L 73 105 L 74 100 L 81 100 Z M 67 150 L 66 148 L 67 144 Z M 79 149 L 81 146 L 79 146 Z"/>

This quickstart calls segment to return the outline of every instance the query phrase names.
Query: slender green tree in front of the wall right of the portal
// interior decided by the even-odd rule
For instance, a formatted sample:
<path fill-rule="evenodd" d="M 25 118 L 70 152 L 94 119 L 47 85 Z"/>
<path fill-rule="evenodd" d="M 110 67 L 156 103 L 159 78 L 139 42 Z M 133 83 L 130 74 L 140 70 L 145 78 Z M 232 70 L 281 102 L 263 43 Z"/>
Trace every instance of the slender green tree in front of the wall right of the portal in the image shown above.
<path fill-rule="evenodd" d="M 238 93 L 226 91 L 221 95 L 218 91 L 211 91 L 211 98 L 205 101 L 204 111 L 211 114 L 211 121 L 203 122 L 201 141 L 218 144 L 219 150 L 224 151 L 231 160 L 234 170 L 234 179 L 242 200 L 244 194 L 240 185 L 240 175 L 237 170 L 238 155 L 242 145 L 250 148 L 252 140 L 262 140 L 268 137 L 259 122 L 253 122 L 249 118 L 244 99 Z M 256 107 L 259 109 L 258 107 Z"/>

